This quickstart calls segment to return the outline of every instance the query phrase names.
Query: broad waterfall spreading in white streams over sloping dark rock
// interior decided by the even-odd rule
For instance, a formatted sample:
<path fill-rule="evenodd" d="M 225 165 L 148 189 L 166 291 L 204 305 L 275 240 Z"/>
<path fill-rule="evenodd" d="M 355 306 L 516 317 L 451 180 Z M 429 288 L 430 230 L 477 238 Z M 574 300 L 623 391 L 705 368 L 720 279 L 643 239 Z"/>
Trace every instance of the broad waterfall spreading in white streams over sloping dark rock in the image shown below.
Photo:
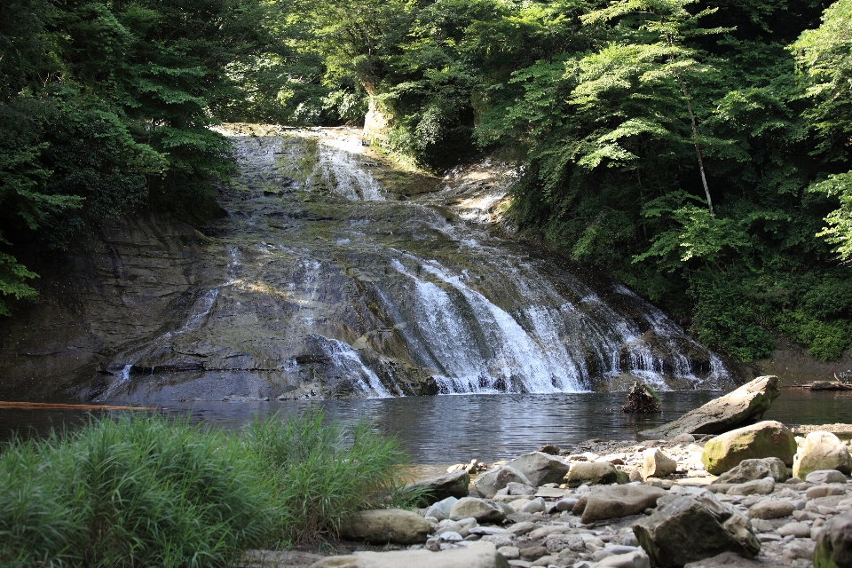
<path fill-rule="evenodd" d="M 505 187 L 399 170 L 350 129 L 226 129 L 241 172 L 205 274 L 84 396 L 389 397 L 733 384 L 618 282 L 487 220 Z M 471 182 L 471 179 L 474 181 Z M 474 207 L 474 209 L 476 209 Z"/>

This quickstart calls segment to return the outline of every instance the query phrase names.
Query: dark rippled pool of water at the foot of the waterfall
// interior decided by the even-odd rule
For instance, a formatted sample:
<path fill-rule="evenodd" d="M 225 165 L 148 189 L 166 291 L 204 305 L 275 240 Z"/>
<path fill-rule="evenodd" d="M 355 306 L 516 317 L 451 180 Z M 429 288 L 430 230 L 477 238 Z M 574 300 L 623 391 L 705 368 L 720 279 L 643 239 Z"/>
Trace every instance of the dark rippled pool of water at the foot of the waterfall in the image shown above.
<path fill-rule="evenodd" d="M 497 394 L 285 402 L 204 402 L 166 406 L 194 423 L 239 429 L 256 417 L 321 408 L 344 423 L 367 419 L 398 437 L 420 464 L 497 461 L 545 443 L 563 446 L 589 438 L 635 439 L 648 430 L 720 396 L 707 390 L 662 392 L 663 412 L 619 413 L 626 393 Z M 784 390 L 764 418 L 787 424 L 852 423 L 852 393 Z M 95 415 L 120 411 L 0 410 L 0 439 L 45 436 L 73 429 Z"/>

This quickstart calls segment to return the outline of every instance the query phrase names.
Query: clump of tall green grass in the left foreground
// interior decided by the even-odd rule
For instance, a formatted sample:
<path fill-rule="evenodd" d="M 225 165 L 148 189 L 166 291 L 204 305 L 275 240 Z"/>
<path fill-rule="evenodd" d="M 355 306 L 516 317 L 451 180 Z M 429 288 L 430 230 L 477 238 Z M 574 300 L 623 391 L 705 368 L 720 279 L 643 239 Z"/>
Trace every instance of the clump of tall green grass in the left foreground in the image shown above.
<path fill-rule="evenodd" d="M 0 453 L 0 565 L 227 566 L 398 488 L 395 440 L 312 412 L 241 435 L 124 415 Z"/>

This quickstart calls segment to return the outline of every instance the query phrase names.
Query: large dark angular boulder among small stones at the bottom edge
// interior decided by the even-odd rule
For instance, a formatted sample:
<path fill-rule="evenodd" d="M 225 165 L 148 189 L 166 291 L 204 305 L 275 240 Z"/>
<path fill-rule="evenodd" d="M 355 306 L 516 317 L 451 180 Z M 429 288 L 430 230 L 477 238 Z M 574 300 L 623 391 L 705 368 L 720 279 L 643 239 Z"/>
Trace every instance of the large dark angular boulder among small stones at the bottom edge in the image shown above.
<path fill-rule="evenodd" d="M 748 519 L 713 493 L 667 495 L 658 505 L 633 526 L 655 565 L 675 568 L 722 552 L 748 557 L 760 552 Z"/>

